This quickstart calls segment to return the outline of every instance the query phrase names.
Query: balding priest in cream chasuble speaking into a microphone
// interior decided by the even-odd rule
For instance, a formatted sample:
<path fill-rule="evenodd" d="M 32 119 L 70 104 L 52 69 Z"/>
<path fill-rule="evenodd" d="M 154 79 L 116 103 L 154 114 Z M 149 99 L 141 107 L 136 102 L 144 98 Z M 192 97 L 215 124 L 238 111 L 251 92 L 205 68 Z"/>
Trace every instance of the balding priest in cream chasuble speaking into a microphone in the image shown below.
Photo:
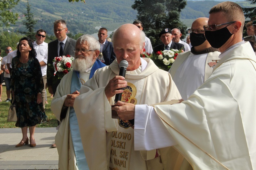
<path fill-rule="evenodd" d="M 166 155 L 171 155 L 171 148 L 134 151 L 133 128 L 130 124 L 126 128 L 118 126 L 122 120 L 112 119 L 111 105 L 118 93 L 122 93 L 121 101 L 150 105 L 179 99 L 179 91 L 168 72 L 151 59 L 140 57 L 145 34 L 137 26 L 120 26 L 113 33 L 112 42 L 116 60 L 98 69 L 83 84 L 74 102 L 89 169 L 169 169 L 171 161 Z M 128 62 L 125 78 L 119 76 L 118 64 L 122 60 Z"/>

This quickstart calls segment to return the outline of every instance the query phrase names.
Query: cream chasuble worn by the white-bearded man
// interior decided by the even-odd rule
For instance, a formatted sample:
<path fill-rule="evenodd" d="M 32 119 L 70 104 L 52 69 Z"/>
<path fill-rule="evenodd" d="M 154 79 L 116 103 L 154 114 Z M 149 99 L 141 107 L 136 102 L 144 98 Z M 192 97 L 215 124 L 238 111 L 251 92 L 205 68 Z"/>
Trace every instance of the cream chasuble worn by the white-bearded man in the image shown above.
<path fill-rule="evenodd" d="M 55 96 L 51 102 L 51 109 L 56 118 L 60 121 L 60 113 L 67 94 L 70 94 L 71 79 L 73 71 L 65 75 L 57 88 Z M 89 79 L 90 69 L 87 73 L 80 73 L 80 82 L 84 83 Z M 76 166 L 75 152 L 69 128 L 69 109 L 66 118 L 61 121 L 58 132 L 55 136 L 55 143 L 59 154 L 60 170 L 78 170 Z"/>

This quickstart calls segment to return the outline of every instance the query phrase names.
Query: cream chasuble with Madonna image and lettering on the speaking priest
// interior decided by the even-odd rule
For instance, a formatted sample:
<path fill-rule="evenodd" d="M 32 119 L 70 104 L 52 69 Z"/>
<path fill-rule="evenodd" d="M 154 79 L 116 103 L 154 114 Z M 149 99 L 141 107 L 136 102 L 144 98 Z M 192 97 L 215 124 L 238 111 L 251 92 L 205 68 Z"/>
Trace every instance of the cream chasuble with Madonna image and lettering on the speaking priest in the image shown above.
<path fill-rule="evenodd" d="M 128 86 L 124 89 L 122 100 L 134 104 L 154 104 L 180 99 L 181 96 L 168 72 L 159 69 L 151 59 L 143 58 L 146 67 L 140 72 L 126 72 L 125 80 Z M 109 80 L 119 74 L 117 61 L 110 66 L 98 69 L 90 80 L 81 87 L 80 95 L 76 97 L 74 109 L 77 114 L 81 138 L 87 163 L 90 169 L 168 169 L 169 152 L 156 150 L 151 152 L 134 151 L 133 129 L 121 128 L 118 120 L 111 118 L 111 105 L 114 104 L 113 96 L 110 101 L 105 96 L 105 86 Z M 87 109 L 89 107 L 89 109 Z M 118 129 L 118 130 L 117 130 Z M 117 131 L 116 131 L 117 130 Z M 169 153 L 171 154 L 171 153 Z M 143 157 L 142 157 L 143 156 Z M 150 160 L 143 160 L 150 159 Z M 162 169 L 163 169 L 162 168 Z"/>

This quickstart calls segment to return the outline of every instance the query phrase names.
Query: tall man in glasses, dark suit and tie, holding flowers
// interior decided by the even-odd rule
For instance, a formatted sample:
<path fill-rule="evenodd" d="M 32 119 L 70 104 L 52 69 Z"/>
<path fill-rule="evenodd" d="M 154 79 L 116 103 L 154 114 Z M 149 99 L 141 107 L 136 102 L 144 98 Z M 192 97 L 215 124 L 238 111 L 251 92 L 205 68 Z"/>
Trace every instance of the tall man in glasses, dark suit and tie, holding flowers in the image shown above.
<path fill-rule="evenodd" d="M 54 34 L 57 40 L 48 44 L 48 61 L 47 61 L 47 86 L 51 94 L 55 94 L 60 79 L 58 79 L 58 72 L 54 76 L 53 59 L 58 56 L 73 55 L 76 41 L 69 38 L 65 20 L 56 20 L 54 22 Z M 49 64 L 51 66 L 49 66 Z"/>

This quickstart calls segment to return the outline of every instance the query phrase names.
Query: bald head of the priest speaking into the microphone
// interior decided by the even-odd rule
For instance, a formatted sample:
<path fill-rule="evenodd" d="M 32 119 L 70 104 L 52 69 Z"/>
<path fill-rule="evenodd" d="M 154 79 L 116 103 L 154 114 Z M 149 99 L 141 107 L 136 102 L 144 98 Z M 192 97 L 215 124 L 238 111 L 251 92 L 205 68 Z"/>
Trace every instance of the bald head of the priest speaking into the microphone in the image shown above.
<path fill-rule="evenodd" d="M 127 71 L 139 68 L 140 54 L 145 45 L 145 34 L 136 25 L 124 24 L 120 26 L 112 35 L 112 42 L 116 60 L 128 61 Z"/>

